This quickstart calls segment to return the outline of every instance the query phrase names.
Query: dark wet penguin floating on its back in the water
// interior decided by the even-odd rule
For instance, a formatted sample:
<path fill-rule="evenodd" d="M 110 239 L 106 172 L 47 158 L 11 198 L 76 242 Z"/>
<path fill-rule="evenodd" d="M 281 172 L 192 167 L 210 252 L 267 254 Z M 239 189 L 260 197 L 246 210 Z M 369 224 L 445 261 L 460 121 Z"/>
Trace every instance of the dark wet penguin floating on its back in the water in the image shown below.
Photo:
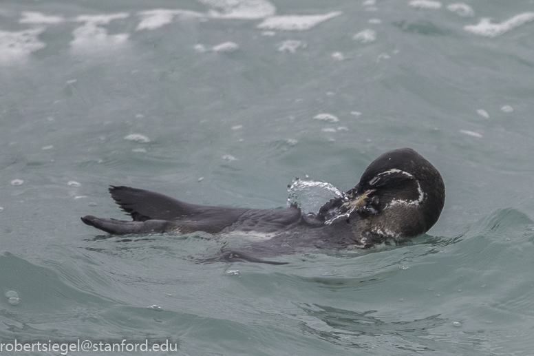
<path fill-rule="evenodd" d="M 88 215 L 81 218 L 85 224 L 113 235 L 195 231 L 272 235 L 255 242 L 255 255 L 367 249 L 388 240 L 412 238 L 427 232 L 445 205 L 445 184 L 439 171 L 410 148 L 378 156 L 355 187 L 325 202 L 317 213 L 303 213 L 296 205 L 286 209 L 195 205 L 125 186 L 111 186 L 109 193 L 132 221 Z M 227 251 L 225 259 L 263 262 L 239 251 Z"/>

